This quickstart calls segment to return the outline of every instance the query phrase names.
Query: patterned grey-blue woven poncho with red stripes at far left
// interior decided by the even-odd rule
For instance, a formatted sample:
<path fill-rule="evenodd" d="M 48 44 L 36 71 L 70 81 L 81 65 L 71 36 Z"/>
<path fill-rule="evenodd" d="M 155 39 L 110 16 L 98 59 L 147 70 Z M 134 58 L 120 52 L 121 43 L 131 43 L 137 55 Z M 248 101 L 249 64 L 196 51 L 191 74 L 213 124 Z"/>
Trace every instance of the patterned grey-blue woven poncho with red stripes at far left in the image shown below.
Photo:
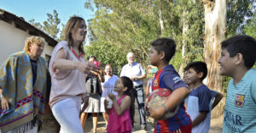
<path fill-rule="evenodd" d="M 33 114 L 42 119 L 45 106 L 46 65 L 38 58 L 35 84 L 32 84 L 32 66 L 29 55 L 15 53 L 3 63 L 0 69 L 0 88 L 10 109 L 3 111 L 0 98 L 0 129 L 2 132 L 25 125 L 33 119 Z"/>

